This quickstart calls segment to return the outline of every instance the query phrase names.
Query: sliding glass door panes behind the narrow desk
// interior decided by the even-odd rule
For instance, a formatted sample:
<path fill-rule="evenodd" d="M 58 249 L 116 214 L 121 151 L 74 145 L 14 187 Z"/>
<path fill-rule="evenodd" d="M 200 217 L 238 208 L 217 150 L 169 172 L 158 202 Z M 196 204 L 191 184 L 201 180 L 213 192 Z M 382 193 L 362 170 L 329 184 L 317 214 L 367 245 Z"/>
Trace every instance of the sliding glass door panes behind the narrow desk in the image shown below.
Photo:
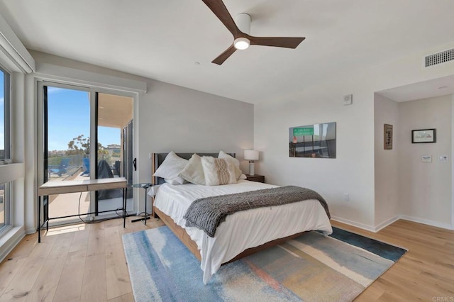
<path fill-rule="evenodd" d="M 43 173 L 38 182 L 124 177 L 122 164 L 132 167 L 132 162 L 123 157 L 122 130 L 133 121 L 133 99 L 45 82 L 40 82 L 39 89 Z M 129 191 L 132 198 L 133 190 Z M 80 214 L 116 215 L 100 212 L 121 208 L 121 197 L 121 189 L 47 196 L 43 211 L 48 211 L 50 218 L 86 221 L 92 216 Z M 132 208 L 133 203 L 129 205 Z M 59 222 L 51 220 L 55 221 Z"/>

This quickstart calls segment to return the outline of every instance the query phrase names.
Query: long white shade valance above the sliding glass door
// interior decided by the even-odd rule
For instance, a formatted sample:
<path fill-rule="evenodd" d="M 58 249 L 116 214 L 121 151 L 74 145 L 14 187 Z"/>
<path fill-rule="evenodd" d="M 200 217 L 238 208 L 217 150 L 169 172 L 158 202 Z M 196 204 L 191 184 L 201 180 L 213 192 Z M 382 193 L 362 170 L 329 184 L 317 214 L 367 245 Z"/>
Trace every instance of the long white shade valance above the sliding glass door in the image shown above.
<path fill-rule="evenodd" d="M 43 81 L 53 80 L 60 82 L 61 84 L 74 85 L 74 83 L 77 83 L 79 86 L 86 85 L 89 88 L 106 88 L 129 92 L 146 93 L 147 91 L 147 83 L 142 81 L 124 79 L 107 74 L 101 75 L 95 72 L 87 72 L 80 69 L 62 67 L 42 62 L 36 63 L 36 73 L 35 77 L 37 79 Z"/>

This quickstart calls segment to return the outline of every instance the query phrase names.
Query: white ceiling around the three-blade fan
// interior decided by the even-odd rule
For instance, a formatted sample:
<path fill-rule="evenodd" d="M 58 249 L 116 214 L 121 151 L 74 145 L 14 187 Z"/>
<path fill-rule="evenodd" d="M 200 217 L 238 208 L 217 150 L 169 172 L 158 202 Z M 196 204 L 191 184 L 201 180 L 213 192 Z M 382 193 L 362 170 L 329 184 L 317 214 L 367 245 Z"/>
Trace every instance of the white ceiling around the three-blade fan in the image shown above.
<path fill-rule="evenodd" d="M 0 0 L 0 11 L 28 49 L 253 104 L 454 40 L 453 0 L 224 3 L 250 14 L 251 35 L 306 40 L 253 45 L 218 66 L 233 38 L 201 0 Z"/>

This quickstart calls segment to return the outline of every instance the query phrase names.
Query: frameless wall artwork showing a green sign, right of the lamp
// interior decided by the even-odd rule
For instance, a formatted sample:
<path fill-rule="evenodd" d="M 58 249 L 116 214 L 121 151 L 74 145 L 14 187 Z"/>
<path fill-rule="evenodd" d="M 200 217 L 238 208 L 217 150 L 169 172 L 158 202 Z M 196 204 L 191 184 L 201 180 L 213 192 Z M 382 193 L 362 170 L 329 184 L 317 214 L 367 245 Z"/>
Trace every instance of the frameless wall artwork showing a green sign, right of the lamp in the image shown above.
<path fill-rule="evenodd" d="M 289 155 L 336 158 L 336 123 L 289 128 Z"/>

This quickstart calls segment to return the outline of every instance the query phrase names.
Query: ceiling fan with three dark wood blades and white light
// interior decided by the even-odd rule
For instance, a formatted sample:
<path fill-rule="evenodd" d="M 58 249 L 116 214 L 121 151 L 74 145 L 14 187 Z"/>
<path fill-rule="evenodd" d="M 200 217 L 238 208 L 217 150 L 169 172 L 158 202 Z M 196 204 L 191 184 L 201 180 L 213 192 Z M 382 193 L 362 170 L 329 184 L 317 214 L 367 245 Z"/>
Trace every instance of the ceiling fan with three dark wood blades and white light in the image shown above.
<path fill-rule="evenodd" d="M 250 28 L 250 16 L 246 13 L 240 13 L 237 16 L 237 22 L 242 23 L 238 28 L 235 21 L 222 0 L 202 0 L 204 4 L 214 12 L 216 17 L 223 23 L 224 26 L 232 33 L 234 41 L 233 44 L 228 47 L 221 55 L 216 57 L 213 61 L 214 64 L 221 65 L 225 60 L 230 57 L 236 50 L 245 50 L 249 45 L 262 45 L 262 46 L 275 46 L 275 47 L 286 47 L 286 48 L 297 48 L 305 38 L 301 37 L 254 37 L 249 35 L 245 31 L 249 31 Z"/>

